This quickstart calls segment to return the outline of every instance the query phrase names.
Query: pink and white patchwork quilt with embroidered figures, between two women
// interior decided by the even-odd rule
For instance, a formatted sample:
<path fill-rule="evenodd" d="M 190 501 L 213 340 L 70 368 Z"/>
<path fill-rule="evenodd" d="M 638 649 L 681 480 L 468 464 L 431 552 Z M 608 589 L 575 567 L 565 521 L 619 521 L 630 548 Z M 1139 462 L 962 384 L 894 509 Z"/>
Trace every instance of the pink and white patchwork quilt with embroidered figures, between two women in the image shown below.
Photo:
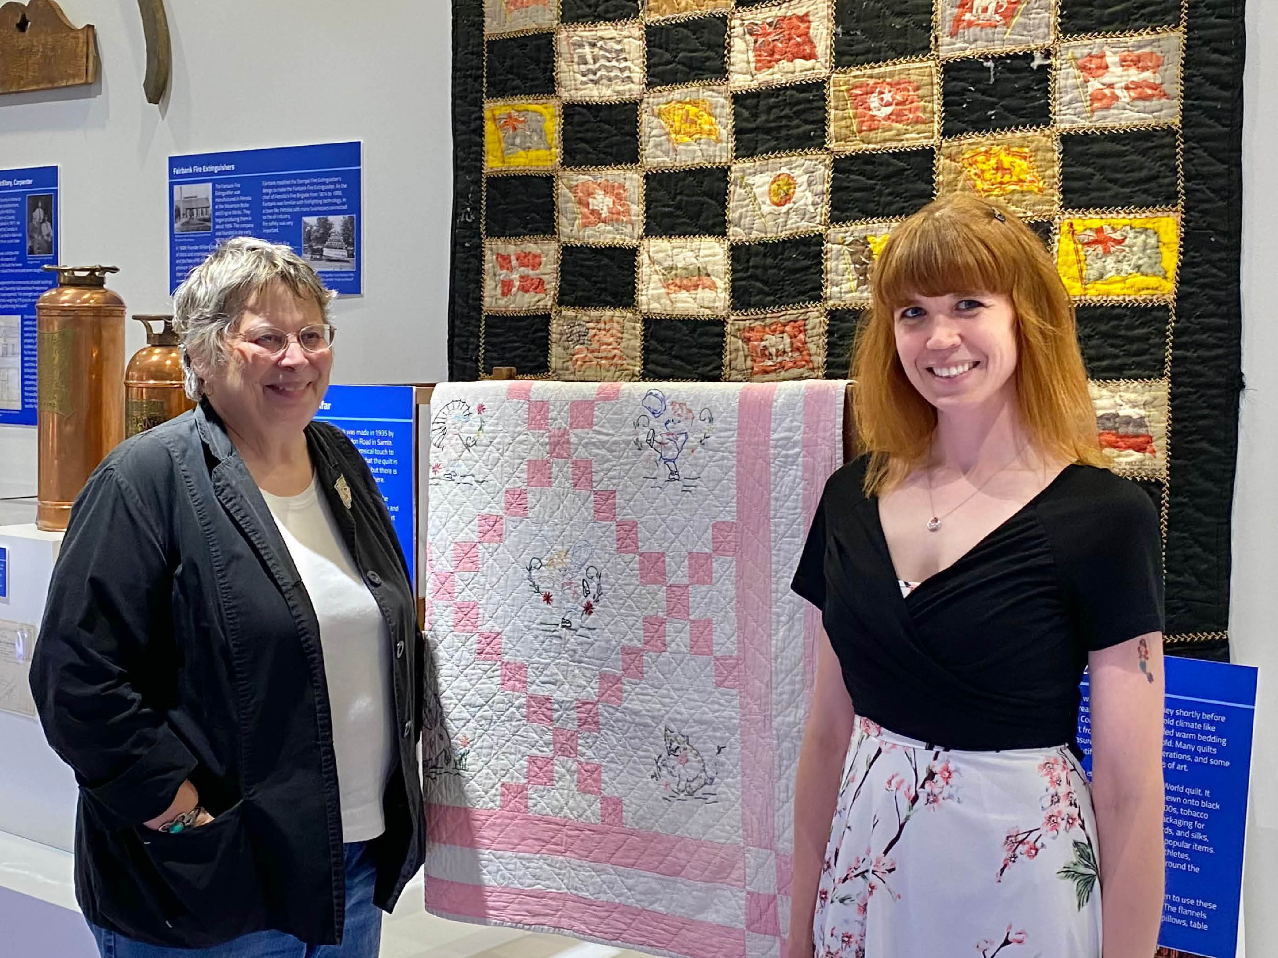
<path fill-rule="evenodd" d="M 426 904 L 777 958 L 843 382 L 452 383 L 432 402 Z"/>

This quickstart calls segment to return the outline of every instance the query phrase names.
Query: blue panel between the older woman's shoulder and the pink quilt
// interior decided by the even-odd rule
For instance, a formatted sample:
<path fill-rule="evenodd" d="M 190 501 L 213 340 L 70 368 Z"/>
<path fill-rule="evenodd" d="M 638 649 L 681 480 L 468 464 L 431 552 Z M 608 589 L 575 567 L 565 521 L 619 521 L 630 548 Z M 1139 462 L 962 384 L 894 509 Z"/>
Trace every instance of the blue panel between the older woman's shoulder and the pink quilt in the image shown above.
<path fill-rule="evenodd" d="M 417 391 L 412 386 L 330 386 L 316 419 L 332 423 L 359 450 L 386 499 L 409 580 L 415 582 Z"/>

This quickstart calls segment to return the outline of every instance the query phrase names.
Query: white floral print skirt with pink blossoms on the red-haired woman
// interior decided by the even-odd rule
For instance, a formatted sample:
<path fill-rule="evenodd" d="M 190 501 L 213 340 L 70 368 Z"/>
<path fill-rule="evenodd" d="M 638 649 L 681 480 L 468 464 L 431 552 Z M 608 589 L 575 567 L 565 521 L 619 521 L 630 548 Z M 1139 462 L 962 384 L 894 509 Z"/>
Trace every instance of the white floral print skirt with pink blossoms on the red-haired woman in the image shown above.
<path fill-rule="evenodd" d="M 817 958 L 1100 958 L 1091 789 L 1068 747 L 937 749 L 858 718 Z"/>

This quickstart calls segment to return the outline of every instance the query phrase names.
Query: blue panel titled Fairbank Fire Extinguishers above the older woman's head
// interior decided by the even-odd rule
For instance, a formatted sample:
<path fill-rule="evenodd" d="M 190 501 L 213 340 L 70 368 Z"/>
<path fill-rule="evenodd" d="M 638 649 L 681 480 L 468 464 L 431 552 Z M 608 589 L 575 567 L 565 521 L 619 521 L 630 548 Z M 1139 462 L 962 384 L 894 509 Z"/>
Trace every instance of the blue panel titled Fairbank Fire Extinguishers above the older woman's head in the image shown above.
<path fill-rule="evenodd" d="M 170 293 L 231 236 L 293 247 L 328 289 L 363 293 L 359 143 L 169 157 Z"/>

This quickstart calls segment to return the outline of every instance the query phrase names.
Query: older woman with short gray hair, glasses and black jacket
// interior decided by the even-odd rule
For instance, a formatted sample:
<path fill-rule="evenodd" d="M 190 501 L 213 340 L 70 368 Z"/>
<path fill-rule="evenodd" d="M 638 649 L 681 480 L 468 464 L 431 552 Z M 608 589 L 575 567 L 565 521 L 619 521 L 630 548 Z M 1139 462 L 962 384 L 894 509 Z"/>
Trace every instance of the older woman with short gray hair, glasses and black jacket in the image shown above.
<path fill-rule="evenodd" d="M 31 686 L 104 958 L 373 958 L 420 867 L 424 650 L 373 476 L 312 422 L 330 299 L 224 243 L 175 298 L 199 405 L 72 511 Z"/>

